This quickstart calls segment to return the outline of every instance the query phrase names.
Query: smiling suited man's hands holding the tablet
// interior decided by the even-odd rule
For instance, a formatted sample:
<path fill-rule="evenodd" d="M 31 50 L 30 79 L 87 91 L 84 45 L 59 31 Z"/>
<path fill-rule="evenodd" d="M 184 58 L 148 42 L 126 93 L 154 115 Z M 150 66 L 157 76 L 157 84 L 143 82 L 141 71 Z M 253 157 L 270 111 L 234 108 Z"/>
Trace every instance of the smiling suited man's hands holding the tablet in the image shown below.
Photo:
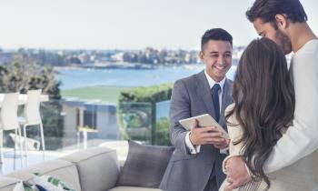
<path fill-rule="evenodd" d="M 194 120 L 189 138 L 194 146 L 210 144 L 219 149 L 223 149 L 228 146 L 228 141 L 226 141 L 226 139 L 224 139 L 222 135 L 223 132 L 217 130 L 215 126 L 198 128 L 197 121 Z"/>

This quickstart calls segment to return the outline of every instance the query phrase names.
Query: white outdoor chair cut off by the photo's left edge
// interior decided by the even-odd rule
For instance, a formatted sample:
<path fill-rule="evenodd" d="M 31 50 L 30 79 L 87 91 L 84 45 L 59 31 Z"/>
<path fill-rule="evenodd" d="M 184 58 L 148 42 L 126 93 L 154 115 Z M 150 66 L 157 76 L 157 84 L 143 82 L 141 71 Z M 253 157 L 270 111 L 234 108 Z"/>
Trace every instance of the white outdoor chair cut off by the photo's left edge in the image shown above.
<path fill-rule="evenodd" d="M 21 154 L 21 166 L 23 166 L 22 158 L 22 142 L 17 140 L 21 138 L 21 128 L 19 126 L 17 117 L 17 106 L 18 106 L 19 93 L 5 94 L 4 101 L 1 106 L 0 114 L 0 149 L 1 149 L 1 163 L 3 163 L 4 153 L 4 131 L 15 130 L 15 150 L 17 148 L 17 143 L 20 143 L 20 154 Z M 19 136 L 17 136 L 19 134 Z"/>

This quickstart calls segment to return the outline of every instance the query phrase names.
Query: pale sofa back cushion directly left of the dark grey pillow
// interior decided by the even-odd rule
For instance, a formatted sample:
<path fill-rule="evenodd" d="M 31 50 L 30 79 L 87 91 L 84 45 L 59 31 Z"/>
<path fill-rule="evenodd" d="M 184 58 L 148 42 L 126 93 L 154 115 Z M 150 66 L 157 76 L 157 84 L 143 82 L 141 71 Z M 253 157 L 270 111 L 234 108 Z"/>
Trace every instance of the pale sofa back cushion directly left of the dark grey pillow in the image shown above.
<path fill-rule="evenodd" d="M 102 191 L 115 186 L 119 166 L 115 150 L 95 147 L 64 156 L 64 160 L 75 163 L 83 191 Z"/>

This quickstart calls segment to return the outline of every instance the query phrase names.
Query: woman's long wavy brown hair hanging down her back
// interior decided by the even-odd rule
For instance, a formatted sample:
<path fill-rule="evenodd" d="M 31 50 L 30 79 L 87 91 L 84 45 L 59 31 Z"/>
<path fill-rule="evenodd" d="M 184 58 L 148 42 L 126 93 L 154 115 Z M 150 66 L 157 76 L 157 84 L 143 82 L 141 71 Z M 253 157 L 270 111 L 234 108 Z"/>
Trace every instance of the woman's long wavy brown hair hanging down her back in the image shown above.
<path fill-rule="evenodd" d="M 253 40 L 243 52 L 234 77 L 234 115 L 242 126 L 243 159 L 254 176 L 271 186 L 263 165 L 283 128 L 292 123 L 294 90 L 283 50 L 272 40 Z M 236 126 L 237 126 L 236 125 Z M 229 126 L 235 126 L 229 124 Z"/>

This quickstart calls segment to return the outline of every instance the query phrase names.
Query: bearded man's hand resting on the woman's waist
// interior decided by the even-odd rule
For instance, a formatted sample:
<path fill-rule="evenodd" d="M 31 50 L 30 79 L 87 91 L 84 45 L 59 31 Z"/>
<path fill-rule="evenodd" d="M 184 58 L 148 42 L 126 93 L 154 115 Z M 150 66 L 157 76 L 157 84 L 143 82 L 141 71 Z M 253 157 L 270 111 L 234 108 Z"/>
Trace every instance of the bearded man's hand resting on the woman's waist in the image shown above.
<path fill-rule="evenodd" d="M 229 183 L 229 186 L 224 188 L 225 191 L 234 190 L 251 180 L 251 176 L 247 172 L 242 156 L 229 158 L 226 161 L 225 168 L 227 172 L 226 181 Z"/>

